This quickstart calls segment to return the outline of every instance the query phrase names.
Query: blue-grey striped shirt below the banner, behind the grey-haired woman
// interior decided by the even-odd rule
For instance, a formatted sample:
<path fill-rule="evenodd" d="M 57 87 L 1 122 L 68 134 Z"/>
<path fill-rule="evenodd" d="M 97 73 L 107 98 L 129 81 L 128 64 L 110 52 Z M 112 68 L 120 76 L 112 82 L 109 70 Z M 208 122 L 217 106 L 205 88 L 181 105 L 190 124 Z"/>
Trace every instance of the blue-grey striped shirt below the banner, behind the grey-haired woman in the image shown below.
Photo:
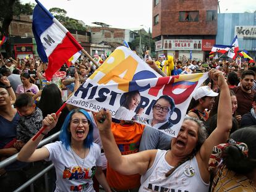
<path fill-rule="evenodd" d="M 140 140 L 139 151 L 148 149 L 162 149 L 168 150 L 171 148 L 172 137 L 165 133 L 146 126 L 144 128 L 142 139 Z"/>

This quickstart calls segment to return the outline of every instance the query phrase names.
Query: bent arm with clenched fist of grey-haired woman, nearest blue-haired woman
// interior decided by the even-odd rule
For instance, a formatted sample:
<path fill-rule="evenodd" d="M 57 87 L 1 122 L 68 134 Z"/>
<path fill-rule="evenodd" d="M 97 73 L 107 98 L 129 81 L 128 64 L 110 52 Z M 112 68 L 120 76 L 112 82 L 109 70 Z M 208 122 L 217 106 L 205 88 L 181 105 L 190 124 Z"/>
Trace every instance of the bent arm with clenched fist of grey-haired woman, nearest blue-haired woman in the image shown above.
<path fill-rule="evenodd" d="M 103 120 L 105 119 L 105 120 Z M 111 132 L 111 114 L 108 110 L 101 110 L 96 114 L 96 123 L 100 131 L 101 143 L 109 165 L 119 173 L 132 175 L 144 174 L 151 167 L 156 156 L 156 150 L 148 150 L 122 156 Z M 131 166 L 132 165 L 132 166 Z"/>

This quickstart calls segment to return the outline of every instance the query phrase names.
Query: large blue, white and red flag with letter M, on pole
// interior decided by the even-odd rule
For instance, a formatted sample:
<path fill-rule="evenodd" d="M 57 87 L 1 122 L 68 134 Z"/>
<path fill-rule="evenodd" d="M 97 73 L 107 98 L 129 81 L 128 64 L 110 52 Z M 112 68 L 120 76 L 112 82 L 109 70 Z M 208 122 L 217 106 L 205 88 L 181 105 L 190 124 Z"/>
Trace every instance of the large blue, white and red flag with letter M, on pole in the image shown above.
<path fill-rule="evenodd" d="M 78 58 L 83 48 L 38 0 L 35 1 L 32 30 L 37 52 L 43 62 L 48 62 L 45 76 L 49 81 L 65 62 Z"/>

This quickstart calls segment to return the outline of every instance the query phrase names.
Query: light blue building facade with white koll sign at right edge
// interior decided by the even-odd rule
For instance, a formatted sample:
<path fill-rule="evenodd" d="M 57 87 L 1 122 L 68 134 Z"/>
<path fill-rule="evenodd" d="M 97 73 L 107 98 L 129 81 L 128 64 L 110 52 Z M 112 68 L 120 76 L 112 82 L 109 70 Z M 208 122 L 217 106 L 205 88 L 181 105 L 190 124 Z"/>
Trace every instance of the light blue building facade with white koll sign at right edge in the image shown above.
<path fill-rule="evenodd" d="M 249 51 L 256 57 L 256 12 L 218 14 L 216 44 L 230 45 L 237 35 L 240 50 Z"/>

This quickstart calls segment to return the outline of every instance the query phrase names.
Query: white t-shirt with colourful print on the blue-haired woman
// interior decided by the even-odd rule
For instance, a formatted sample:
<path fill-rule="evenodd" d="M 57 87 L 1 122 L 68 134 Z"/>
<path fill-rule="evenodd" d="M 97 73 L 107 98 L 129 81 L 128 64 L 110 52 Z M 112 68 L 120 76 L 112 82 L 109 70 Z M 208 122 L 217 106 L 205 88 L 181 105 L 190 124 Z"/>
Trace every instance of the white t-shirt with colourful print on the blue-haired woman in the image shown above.
<path fill-rule="evenodd" d="M 98 144 L 92 144 L 87 157 L 85 157 L 84 164 L 83 159 L 77 156 L 75 152 L 73 152 L 73 156 L 71 149 L 67 150 L 61 141 L 46 144 L 45 148 L 48 149 L 50 154 L 45 161 L 53 161 L 56 169 L 56 192 L 94 191 L 92 178 L 96 172 L 96 166 L 102 165 Z"/>

